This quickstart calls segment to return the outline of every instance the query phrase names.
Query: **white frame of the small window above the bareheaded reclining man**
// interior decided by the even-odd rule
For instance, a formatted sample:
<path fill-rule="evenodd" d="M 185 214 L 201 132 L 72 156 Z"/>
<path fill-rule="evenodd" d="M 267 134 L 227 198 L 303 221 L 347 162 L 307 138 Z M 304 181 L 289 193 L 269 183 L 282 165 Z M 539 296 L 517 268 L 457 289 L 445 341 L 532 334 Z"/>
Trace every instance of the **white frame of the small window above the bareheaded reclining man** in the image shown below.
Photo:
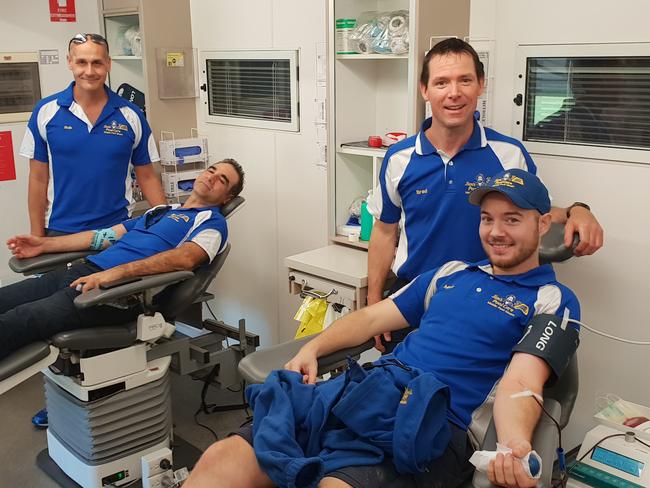
<path fill-rule="evenodd" d="M 242 61 L 265 60 L 265 59 L 282 59 L 289 61 L 290 75 L 290 96 L 291 96 L 291 121 L 280 122 L 273 120 L 261 120 L 244 117 L 230 117 L 223 115 L 211 115 L 209 98 L 208 98 L 208 60 L 234 59 Z M 299 50 L 225 50 L 225 51 L 203 51 L 200 55 L 201 66 L 201 100 L 205 107 L 205 121 L 213 124 L 234 125 L 240 127 L 252 127 L 258 129 L 283 130 L 289 132 L 300 131 L 300 104 L 298 90 L 298 69 L 299 69 Z"/>

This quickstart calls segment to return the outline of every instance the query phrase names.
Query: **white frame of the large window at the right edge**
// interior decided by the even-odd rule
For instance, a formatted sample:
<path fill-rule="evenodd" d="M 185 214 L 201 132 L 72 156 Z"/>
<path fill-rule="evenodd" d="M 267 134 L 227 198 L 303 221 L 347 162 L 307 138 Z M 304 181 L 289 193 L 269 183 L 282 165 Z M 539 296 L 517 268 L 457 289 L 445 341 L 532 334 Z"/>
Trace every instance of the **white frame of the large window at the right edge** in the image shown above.
<path fill-rule="evenodd" d="M 526 104 L 527 66 L 529 58 L 650 56 L 650 42 L 519 44 L 515 59 L 513 97 L 521 95 L 520 105 L 513 103 L 512 134 L 529 152 L 551 156 L 598 159 L 650 164 L 650 148 L 606 147 L 578 142 L 540 142 L 523 140 Z"/>

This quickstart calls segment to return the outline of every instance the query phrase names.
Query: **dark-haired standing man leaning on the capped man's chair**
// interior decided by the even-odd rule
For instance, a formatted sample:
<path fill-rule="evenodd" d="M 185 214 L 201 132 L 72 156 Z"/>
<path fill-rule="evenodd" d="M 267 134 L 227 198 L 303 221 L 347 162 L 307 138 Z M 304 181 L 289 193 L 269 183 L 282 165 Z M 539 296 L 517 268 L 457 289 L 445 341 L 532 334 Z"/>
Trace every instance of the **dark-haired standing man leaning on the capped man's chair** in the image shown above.
<path fill-rule="evenodd" d="M 431 104 L 432 116 L 417 135 L 386 152 L 379 188 L 368 205 L 376 219 L 368 250 L 369 305 L 383 298 L 391 268 L 397 276 L 394 292 L 450 259 L 485 258 L 474 232 L 479 212 L 467 202 L 467 194 L 504 169 L 537 173 L 521 142 L 474 119 L 484 86 L 483 65 L 465 41 L 443 40 L 425 56 L 420 92 Z M 580 234 L 576 255 L 592 254 L 602 246 L 603 230 L 586 204 L 554 207 L 551 213 L 553 221 L 566 222 L 567 246 L 575 232 Z M 383 351 L 380 339 L 376 346 Z M 390 334 L 384 339 L 390 340 Z"/>

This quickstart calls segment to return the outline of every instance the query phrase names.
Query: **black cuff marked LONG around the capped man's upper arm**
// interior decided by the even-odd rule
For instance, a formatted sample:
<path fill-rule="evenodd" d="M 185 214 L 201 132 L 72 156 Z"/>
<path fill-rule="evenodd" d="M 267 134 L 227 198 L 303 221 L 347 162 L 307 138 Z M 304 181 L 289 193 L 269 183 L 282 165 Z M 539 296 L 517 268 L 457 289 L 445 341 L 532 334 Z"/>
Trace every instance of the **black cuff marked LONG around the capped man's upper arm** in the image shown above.
<path fill-rule="evenodd" d="M 532 318 L 524 337 L 512 348 L 512 352 L 523 352 L 543 359 L 555 377 L 559 378 L 579 344 L 580 337 L 575 327 L 557 315 L 540 314 Z"/>

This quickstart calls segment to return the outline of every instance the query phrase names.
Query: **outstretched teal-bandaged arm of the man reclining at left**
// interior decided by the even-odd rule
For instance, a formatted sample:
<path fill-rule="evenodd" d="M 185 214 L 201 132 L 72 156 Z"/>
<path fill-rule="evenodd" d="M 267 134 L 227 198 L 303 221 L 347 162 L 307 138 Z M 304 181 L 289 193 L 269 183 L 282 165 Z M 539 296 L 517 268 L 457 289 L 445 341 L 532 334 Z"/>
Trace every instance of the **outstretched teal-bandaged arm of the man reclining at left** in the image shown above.
<path fill-rule="evenodd" d="M 111 227 L 115 232 L 115 239 L 120 239 L 126 234 L 126 227 L 123 224 L 117 224 Z M 11 253 L 18 259 L 33 258 L 41 254 L 85 251 L 91 248 L 91 243 L 97 231 L 88 230 L 57 237 L 39 237 L 34 235 L 19 235 L 7 240 L 7 247 Z M 102 249 L 110 244 L 106 241 L 102 243 Z"/>

